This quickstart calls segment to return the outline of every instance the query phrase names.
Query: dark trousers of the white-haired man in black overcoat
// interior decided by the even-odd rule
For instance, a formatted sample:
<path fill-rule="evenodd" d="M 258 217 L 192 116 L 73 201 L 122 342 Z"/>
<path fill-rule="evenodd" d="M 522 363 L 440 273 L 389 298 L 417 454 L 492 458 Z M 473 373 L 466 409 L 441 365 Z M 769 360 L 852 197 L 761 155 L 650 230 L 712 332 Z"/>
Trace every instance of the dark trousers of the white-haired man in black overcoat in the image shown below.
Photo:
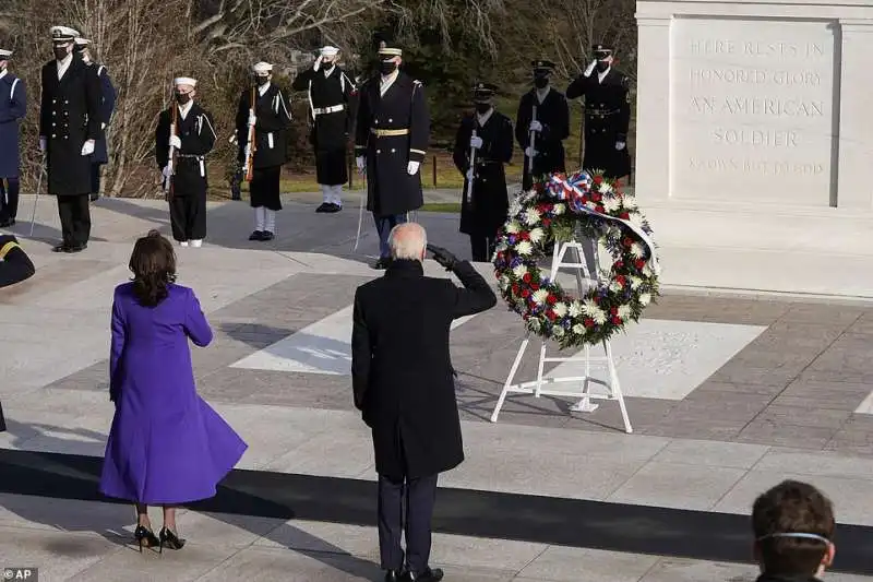
<path fill-rule="evenodd" d="M 403 568 L 403 533 L 406 533 L 406 566 L 415 574 L 427 570 L 436 478 L 438 475 L 414 479 L 379 476 L 379 553 L 383 570 Z"/>

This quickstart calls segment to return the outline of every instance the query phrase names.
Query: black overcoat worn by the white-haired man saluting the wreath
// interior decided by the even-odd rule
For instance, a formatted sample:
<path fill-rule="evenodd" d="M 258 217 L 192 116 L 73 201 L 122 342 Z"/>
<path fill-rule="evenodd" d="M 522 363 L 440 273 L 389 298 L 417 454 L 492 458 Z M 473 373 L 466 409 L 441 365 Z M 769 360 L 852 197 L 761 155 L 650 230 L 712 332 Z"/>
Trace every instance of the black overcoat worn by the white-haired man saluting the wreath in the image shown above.
<path fill-rule="evenodd" d="M 450 329 L 497 297 L 470 263 L 459 262 L 455 274 L 465 288 L 426 277 L 419 261 L 399 260 L 355 294 L 355 405 L 372 429 L 381 475 L 430 476 L 464 461 Z"/>

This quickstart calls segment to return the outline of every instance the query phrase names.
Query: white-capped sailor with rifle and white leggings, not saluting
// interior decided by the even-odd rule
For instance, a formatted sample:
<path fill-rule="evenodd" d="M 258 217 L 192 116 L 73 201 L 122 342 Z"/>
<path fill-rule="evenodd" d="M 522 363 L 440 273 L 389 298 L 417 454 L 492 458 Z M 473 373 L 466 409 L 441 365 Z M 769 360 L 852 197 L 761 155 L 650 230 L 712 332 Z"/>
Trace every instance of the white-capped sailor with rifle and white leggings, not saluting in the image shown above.
<path fill-rule="evenodd" d="M 252 72 L 254 85 L 242 92 L 237 110 L 240 155 L 246 179 L 251 177 L 249 199 L 254 209 L 254 231 L 249 240 L 273 240 L 276 212 L 282 210 L 279 181 L 282 166 L 288 161 L 286 142 L 291 114 L 282 90 L 272 82 L 273 66 L 259 62 Z M 252 133 L 254 142 L 249 149 Z"/>

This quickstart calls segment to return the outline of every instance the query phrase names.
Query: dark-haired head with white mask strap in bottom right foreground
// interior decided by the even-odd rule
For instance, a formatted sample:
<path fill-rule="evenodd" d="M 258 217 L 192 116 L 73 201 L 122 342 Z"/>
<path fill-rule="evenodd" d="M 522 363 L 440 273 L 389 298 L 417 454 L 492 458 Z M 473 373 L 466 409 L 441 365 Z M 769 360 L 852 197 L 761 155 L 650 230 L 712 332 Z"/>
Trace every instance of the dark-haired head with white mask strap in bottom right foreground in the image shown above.
<path fill-rule="evenodd" d="M 818 489 L 786 480 L 755 500 L 755 560 L 767 575 L 820 577 L 834 562 L 834 508 Z"/>

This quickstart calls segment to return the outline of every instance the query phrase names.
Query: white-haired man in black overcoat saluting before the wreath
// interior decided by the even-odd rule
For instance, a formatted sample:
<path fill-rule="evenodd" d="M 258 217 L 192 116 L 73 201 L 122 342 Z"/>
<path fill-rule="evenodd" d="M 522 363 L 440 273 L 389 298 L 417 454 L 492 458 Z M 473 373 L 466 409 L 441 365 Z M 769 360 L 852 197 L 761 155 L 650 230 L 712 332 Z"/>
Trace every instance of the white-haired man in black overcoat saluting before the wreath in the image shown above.
<path fill-rule="evenodd" d="M 395 227 L 388 247 L 392 261 L 385 276 L 355 294 L 355 406 L 373 435 L 385 580 L 435 582 L 443 572 L 431 569 L 428 560 L 436 478 L 464 461 L 449 334 L 454 319 L 490 309 L 497 296 L 469 262 L 428 246 L 424 229 L 416 223 Z M 424 276 L 426 248 L 465 288 Z"/>

